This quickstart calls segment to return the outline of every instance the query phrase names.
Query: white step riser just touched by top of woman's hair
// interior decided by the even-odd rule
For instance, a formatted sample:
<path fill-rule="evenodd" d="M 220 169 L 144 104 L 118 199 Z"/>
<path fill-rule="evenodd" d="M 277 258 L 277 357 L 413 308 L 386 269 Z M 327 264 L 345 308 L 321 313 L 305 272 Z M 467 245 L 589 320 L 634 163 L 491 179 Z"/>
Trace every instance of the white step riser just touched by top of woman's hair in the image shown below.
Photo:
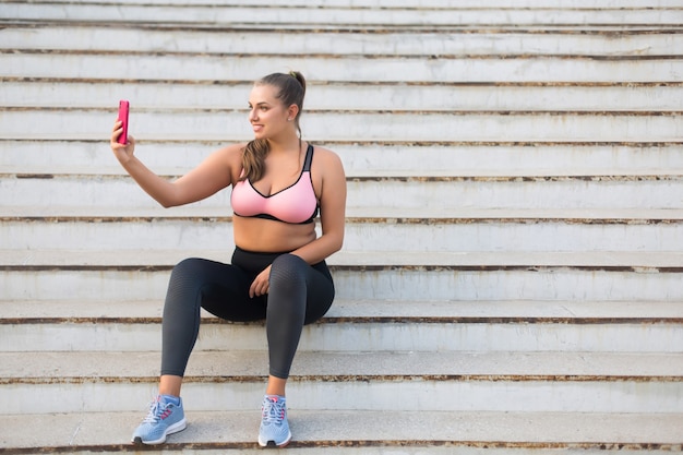
<path fill-rule="evenodd" d="M 301 71 L 310 81 L 372 82 L 674 82 L 681 59 L 478 58 L 417 59 L 402 57 L 326 58 L 33 53 L 0 55 L 0 76 L 111 79 L 110 69 L 135 80 L 255 81 L 274 71 Z"/>

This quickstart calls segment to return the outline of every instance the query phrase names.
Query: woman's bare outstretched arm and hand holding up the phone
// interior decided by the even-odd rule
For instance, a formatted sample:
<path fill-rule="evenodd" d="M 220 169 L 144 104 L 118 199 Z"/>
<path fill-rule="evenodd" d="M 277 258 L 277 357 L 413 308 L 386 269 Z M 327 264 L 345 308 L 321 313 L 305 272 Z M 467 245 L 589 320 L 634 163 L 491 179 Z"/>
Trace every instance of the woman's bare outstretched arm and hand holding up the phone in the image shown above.
<path fill-rule="evenodd" d="M 201 201 L 232 184 L 236 169 L 241 163 L 241 146 L 221 148 L 209 155 L 202 164 L 181 178 L 170 181 L 149 170 L 134 155 L 135 140 L 128 136 L 128 144 L 119 144 L 121 122 L 113 124 L 110 145 L 125 171 L 147 194 L 164 207 L 172 207 Z"/>

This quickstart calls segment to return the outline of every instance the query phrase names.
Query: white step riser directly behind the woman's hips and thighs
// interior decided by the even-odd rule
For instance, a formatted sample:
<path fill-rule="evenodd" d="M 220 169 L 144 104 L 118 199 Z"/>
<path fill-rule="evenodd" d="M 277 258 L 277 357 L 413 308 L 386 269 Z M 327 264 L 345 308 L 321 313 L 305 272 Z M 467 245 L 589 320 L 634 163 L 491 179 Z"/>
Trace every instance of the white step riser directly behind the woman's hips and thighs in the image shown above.
<path fill-rule="evenodd" d="M 7 251 L 7 250 L 5 250 Z M 4 252 L 3 252 L 4 253 Z M 140 252 L 142 255 L 146 252 Z M 192 252 L 193 256 L 204 252 Z M 366 253 L 372 256 L 371 253 Z M 433 255 L 431 253 L 430 255 Z M 481 255 L 481 253 L 480 253 Z M 611 256 L 609 253 L 594 255 Z M 643 254 L 639 254 L 640 256 Z M 31 253 L 26 254 L 26 258 Z M 145 254 L 146 256 L 146 254 Z M 179 254 L 180 256 L 180 254 Z M 468 255 L 471 258 L 471 254 Z M 525 254 L 518 254 L 525 258 Z M 548 254 L 548 256 L 552 256 Z M 637 254 L 635 256 L 638 256 Z M 655 259 L 667 256 L 657 253 Z M 465 258 L 465 255 L 464 255 Z M 179 259 L 179 258 L 178 258 Z M 228 260 L 229 251 L 219 259 Z M 332 265 L 337 297 L 373 300 L 683 300 L 680 263 L 673 267 L 633 258 L 619 265 L 517 265 L 501 261 L 455 265 Z M 536 260 L 536 261 L 535 261 Z M 334 263 L 334 261 L 333 261 Z M 522 265 L 525 264 L 525 265 Z M 158 299 L 171 265 L 0 265 L 4 300 Z"/>

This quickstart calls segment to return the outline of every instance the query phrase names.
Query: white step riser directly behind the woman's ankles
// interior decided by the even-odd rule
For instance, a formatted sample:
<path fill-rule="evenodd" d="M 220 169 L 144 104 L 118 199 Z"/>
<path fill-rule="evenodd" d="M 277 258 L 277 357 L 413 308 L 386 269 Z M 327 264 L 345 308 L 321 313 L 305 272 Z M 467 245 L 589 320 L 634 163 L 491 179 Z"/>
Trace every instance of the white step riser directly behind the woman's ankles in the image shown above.
<path fill-rule="evenodd" d="M 14 384 L 0 386 L 3 414 L 141 411 L 156 394 L 155 384 Z M 200 410 L 254 410 L 263 382 L 183 385 L 188 415 Z M 340 400 L 339 397 L 346 397 Z M 298 382 L 289 381 L 292 410 L 439 410 L 680 412 L 680 382 Z M 134 426 L 134 423 L 131 423 Z"/>

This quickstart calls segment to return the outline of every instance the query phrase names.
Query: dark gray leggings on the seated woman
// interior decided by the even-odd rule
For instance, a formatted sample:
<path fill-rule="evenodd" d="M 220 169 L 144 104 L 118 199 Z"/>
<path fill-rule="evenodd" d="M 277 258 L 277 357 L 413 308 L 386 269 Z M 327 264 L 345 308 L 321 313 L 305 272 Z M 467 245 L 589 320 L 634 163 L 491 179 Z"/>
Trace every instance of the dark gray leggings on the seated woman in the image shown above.
<path fill-rule="evenodd" d="M 268 294 L 249 287 L 272 264 Z M 334 299 L 325 262 L 309 265 L 288 253 L 235 249 L 232 263 L 187 259 L 173 267 L 164 306 L 161 374 L 184 375 L 200 331 L 200 308 L 228 321 L 266 320 L 269 373 L 287 379 L 304 324 L 322 318 Z M 229 346 L 229 340 L 226 340 Z"/>

